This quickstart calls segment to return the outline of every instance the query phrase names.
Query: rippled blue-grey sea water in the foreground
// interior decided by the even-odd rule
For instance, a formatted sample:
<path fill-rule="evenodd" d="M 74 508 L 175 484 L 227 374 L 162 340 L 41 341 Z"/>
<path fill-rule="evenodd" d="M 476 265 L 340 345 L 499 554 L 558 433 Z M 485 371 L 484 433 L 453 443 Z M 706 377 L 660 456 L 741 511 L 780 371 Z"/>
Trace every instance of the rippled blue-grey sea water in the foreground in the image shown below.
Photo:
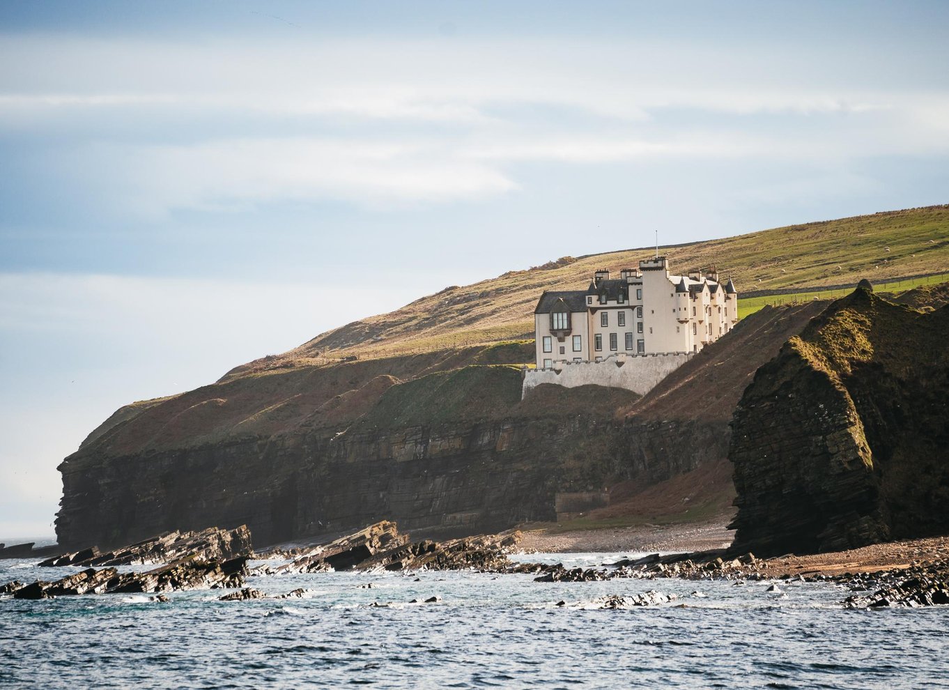
<path fill-rule="evenodd" d="M 623 555 L 634 554 L 523 558 L 588 567 Z M 0 584 L 75 570 L 0 560 Z M 0 685 L 949 688 L 949 607 L 847 610 L 850 592 L 836 585 L 780 583 L 775 594 L 766 582 L 341 572 L 248 586 L 312 591 L 248 602 L 217 601 L 220 590 L 173 592 L 167 604 L 122 594 L 0 599 Z M 679 599 L 583 607 L 648 589 Z M 431 596 L 441 601 L 408 604 Z"/>

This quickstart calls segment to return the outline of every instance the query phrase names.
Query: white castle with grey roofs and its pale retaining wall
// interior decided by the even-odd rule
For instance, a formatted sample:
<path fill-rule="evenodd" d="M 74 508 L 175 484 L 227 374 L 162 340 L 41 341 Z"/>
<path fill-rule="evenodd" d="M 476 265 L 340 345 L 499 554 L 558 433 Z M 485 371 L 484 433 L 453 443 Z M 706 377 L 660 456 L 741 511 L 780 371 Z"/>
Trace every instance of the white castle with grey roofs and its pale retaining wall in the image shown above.
<path fill-rule="evenodd" d="M 597 270 L 586 290 L 545 291 L 534 309 L 538 383 L 597 383 L 644 394 L 738 321 L 738 294 L 715 270 L 671 275 L 668 259 L 620 278 Z M 628 367 L 628 368 L 627 368 Z"/>

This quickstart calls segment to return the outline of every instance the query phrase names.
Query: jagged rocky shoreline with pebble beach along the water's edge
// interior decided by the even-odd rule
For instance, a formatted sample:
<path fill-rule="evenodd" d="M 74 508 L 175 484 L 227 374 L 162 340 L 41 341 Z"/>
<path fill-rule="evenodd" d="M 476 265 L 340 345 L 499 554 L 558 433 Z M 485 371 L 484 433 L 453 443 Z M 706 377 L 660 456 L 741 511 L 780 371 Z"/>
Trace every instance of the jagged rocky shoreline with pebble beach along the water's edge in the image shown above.
<path fill-rule="evenodd" d="M 0 595 L 15 599 L 50 599 L 59 596 L 111 593 L 163 593 L 189 589 L 236 588 L 222 601 L 272 598 L 255 587 L 245 587 L 247 579 L 293 573 L 330 570 L 362 572 L 415 572 L 423 570 L 475 570 L 493 574 L 531 574 L 536 582 L 603 582 L 618 579 L 725 580 L 744 585 L 771 582 L 770 591 L 780 592 L 782 582 L 836 583 L 853 593 L 842 606 L 949 605 L 949 537 L 932 537 L 894 542 L 810 556 L 786 555 L 759 559 L 753 553 L 729 550 L 659 552 L 641 558 L 623 558 L 597 568 L 565 568 L 562 564 L 542 564 L 512 560 L 523 546 L 520 531 L 479 535 L 445 542 L 412 542 L 393 522 L 379 522 L 361 531 L 323 544 L 293 550 L 270 550 L 254 554 L 246 526 L 233 531 L 216 528 L 200 532 L 173 532 L 105 554 L 94 548 L 51 558 L 39 564 L 102 565 L 88 568 L 59 580 L 37 580 L 28 585 L 11 582 L 0 586 Z M 859 552 L 863 551 L 863 552 Z M 120 572 L 115 565 L 153 563 L 164 553 L 170 560 L 157 569 Z M 524 553 L 523 550 L 520 553 Z M 265 562 L 250 568 L 248 561 Z M 281 561 L 271 565 L 267 561 Z M 371 586 L 370 586 L 371 587 Z M 278 598 L 302 597 L 296 589 Z M 650 591 L 636 597 L 607 596 L 583 606 L 629 608 L 666 604 L 675 597 Z M 628 601 L 627 601 L 628 600 Z M 430 603 L 429 601 L 410 602 Z M 567 606 L 566 603 L 558 606 Z M 383 606 L 383 605 L 380 605 Z"/>

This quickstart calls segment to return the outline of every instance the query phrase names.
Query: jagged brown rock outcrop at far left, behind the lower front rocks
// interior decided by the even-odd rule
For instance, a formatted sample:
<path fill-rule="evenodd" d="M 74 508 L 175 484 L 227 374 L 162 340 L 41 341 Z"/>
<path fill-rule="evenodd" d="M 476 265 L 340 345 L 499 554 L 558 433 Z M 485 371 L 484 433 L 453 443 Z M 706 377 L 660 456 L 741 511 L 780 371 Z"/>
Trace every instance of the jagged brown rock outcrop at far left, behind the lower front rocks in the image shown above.
<path fill-rule="evenodd" d="M 249 554 L 251 551 L 251 531 L 247 525 L 241 525 L 233 530 L 211 527 L 201 531 L 172 531 L 107 553 L 101 553 L 98 547 L 88 547 L 48 558 L 38 565 L 150 565 L 177 561 L 189 556 L 206 561 L 224 561 L 240 554 Z"/>

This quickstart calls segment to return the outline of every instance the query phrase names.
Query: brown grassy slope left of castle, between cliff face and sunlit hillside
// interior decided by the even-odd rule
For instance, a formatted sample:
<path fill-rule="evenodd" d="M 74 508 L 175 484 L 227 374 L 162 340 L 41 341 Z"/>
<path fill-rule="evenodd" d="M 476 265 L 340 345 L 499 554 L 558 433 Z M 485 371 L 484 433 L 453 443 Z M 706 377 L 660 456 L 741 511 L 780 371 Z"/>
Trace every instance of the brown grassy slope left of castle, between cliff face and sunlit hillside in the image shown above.
<path fill-rule="evenodd" d="M 403 381 L 469 364 L 523 361 L 525 352 L 532 348 L 498 344 L 344 364 L 246 364 L 219 382 L 122 407 L 89 435 L 83 450 L 94 451 L 88 457 L 121 456 L 297 429 L 341 430 Z"/>

